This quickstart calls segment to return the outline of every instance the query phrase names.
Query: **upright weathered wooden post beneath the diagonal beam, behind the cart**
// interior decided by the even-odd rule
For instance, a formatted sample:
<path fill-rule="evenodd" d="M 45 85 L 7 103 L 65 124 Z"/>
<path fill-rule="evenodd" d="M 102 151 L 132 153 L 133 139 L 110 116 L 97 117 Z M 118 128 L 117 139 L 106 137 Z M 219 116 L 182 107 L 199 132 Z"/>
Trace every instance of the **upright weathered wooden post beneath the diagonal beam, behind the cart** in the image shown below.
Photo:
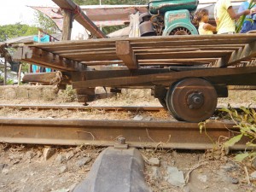
<path fill-rule="evenodd" d="M 72 32 L 73 14 L 68 10 L 63 10 L 63 28 L 61 40 L 70 40 Z"/>

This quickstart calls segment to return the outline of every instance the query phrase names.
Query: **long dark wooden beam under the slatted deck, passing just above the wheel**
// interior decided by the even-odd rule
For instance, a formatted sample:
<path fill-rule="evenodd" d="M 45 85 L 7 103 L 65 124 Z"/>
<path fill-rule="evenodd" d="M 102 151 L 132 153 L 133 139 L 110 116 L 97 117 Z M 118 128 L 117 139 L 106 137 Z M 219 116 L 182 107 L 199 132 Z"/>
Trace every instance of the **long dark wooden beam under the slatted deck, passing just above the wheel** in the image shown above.
<path fill-rule="evenodd" d="M 221 75 L 234 75 L 242 73 L 256 73 L 256 67 L 228 67 L 228 68 L 209 68 L 202 70 L 183 71 L 175 73 L 161 73 L 141 75 L 134 77 L 96 79 L 88 81 L 73 82 L 74 88 L 86 88 L 96 86 L 121 86 L 132 84 L 143 84 L 151 82 L 161 84 L 162 81 L 176 81 L 177 79 L 191 77 L 218 77 Z M 171 83 L 170 83 L 171 84 Z"/>

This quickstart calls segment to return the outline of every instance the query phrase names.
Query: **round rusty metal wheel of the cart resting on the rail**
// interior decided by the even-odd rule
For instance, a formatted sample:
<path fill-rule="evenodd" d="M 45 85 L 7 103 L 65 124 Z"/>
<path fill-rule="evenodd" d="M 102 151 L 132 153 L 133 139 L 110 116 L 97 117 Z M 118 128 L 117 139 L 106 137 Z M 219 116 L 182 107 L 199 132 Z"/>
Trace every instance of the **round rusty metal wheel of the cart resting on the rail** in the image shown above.
<path fill-rule="evenodd" d="M 215 111 L 218 95 L 205 79 L 189 78 L 173 84 L 166 95 L 166 105 L 177 120 L 200 122 Z"/>

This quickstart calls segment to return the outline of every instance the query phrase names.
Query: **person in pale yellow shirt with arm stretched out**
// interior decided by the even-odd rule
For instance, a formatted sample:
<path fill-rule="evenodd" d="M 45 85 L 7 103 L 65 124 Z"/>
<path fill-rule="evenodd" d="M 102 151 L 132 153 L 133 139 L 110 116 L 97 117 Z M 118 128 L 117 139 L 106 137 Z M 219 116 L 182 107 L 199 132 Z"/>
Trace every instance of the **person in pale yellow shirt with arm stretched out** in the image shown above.
<path fill-rule="evenodd" d="M 241 15 L 249 15 L 250 13 L 249 9 L 245 9 L 236 14 L 230 0 L 218 0 L 214 7 L 214 18 L 218 34 L 236 33 L 235 20 L 239 19 Z"/>

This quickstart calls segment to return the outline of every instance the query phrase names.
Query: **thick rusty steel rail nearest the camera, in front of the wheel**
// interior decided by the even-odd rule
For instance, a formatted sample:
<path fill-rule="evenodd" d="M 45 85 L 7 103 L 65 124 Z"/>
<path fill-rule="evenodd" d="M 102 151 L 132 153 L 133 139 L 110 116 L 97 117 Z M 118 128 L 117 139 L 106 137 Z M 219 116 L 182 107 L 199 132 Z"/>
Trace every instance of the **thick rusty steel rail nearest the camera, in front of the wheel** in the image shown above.
<path fill-rule="evenodd" d="M 238 131 L 230 122 L 207 123 L 213 141 Z M 198 124 L 177 121 L 83 120 L 83 119 L 0 119 L 0 142 L 51 145 L 113 146 L 125 137 L 137 148 L 212 148 L 213 143 Z M 244 149 L 242 140 L 234 149 Z"/>

